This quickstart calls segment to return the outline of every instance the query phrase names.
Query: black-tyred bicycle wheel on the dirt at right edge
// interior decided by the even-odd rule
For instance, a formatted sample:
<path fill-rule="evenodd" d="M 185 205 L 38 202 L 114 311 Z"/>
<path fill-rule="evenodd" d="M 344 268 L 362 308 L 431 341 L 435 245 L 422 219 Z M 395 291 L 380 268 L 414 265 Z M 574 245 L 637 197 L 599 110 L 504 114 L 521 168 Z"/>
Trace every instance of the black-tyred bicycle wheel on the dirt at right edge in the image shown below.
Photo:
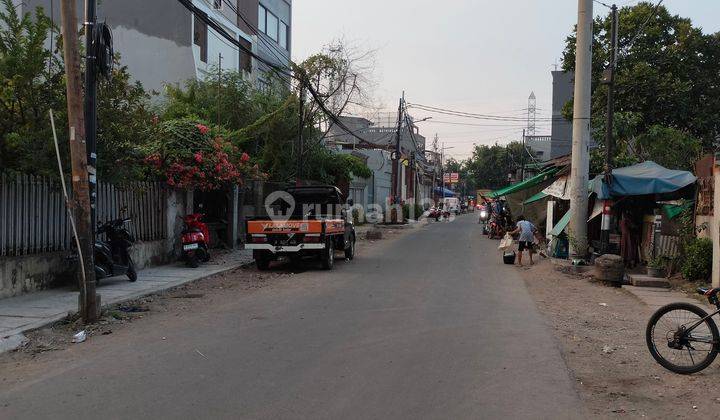
<path fill-rule="evenodd" d="M 715 360 L 720 334 L 712 318 L 689 303 L 672 303 L 658 309 L 648 321 L 645 339 L 652 357 L 665 369 L 683 375 L 700 372 Z"/>

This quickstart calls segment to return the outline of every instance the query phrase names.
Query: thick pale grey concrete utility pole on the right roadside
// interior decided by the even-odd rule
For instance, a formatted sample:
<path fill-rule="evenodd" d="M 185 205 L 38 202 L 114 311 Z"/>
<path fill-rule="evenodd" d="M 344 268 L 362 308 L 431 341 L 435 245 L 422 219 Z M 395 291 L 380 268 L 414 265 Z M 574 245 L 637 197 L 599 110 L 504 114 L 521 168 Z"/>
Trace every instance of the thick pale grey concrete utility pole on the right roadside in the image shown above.
<path fill-rule="evenodd" d="M 590 143 L 590 100 L 593 40 L 593 0 L 578 0 L 577 43 L 575 45 L 575 100 L 570 196 L 570 255 L 587 255 L 587 206 Z"/>

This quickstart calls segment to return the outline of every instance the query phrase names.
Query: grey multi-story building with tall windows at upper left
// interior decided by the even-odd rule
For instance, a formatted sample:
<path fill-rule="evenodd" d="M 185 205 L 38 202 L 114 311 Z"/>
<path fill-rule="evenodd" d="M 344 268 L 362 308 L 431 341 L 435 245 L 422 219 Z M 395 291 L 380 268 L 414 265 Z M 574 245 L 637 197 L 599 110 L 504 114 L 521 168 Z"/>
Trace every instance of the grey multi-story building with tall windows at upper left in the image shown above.
<path fill-rule="evenodd" d="M 22 12 L 42 7 L 60 27 L 57 0 L 17 0 Z M 82 22 L 83 3 L 78 1 Z M 113 30 L 121 64 L 148 90 L 205 77 L 209 71 L 240 71 L 260 86 L 268 67 L 233 45 L 178 0 L 104 0 L 98 19 Z M 192 4 L 247 50 L 289 67 L 292 0 L 192 0 Z M 54 35 L 57 38 L 57 34 Z"/>

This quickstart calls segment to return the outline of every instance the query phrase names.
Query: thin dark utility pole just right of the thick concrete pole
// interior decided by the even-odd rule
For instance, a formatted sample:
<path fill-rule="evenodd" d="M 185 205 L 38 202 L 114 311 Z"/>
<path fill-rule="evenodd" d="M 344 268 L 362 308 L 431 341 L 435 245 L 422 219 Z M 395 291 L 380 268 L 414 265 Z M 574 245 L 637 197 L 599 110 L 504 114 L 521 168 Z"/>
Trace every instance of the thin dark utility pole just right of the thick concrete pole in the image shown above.
<path fill-rule="evenodd" d="M 612 182 L 613 169 L 613 152 L 615 149 L 615 139 L 613 137 L 613 120 L 615 114 L 615 68 L 617 66 L 617 33 L 618 33 L 618 13 L 617 6 L 612 5 L 610 8 L 610 64 L 605 70 L 603 83 L 607 85 L 607 119 L 605 121 L 605 182 L 609 185 Z M 612 217 L 612 203 L 605 200 L 603 203 L 602 223 L 601 223 L 601 249 L 607 252 L 610 243 L 610 221 Z"/>

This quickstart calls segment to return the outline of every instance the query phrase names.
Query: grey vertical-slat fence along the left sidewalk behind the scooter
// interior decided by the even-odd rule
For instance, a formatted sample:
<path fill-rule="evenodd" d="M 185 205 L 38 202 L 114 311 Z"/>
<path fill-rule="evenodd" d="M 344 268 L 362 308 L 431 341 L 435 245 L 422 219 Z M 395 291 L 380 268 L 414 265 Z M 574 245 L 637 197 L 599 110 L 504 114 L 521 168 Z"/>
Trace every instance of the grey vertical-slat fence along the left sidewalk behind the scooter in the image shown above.
<path fill-rule="evenodd" d="M 138 240 L 167 237 L 167 190 L 161 184 L 100 183 L 97 192 L 98 221 L 131 217 L 130 229 Z M 63 251 L 71 238 L 60 181 L 0 175 L 0 256 Z"/>

